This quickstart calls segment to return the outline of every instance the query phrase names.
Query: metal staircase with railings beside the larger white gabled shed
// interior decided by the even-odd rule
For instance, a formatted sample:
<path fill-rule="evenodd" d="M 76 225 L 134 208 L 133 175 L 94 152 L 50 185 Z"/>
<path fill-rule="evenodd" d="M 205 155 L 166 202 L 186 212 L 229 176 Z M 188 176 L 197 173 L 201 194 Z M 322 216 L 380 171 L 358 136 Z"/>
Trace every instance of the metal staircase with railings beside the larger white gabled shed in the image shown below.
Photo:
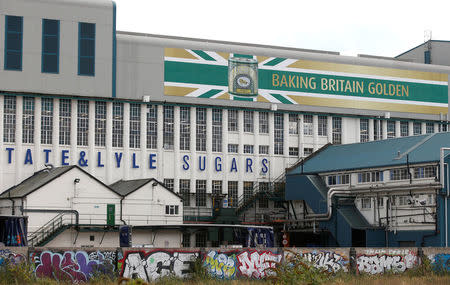
<path fill-rule="evenodd" d="M 74 213 L 62 212 L 28 236 L 29 246 L 44 246 L 73 224 Z"/>

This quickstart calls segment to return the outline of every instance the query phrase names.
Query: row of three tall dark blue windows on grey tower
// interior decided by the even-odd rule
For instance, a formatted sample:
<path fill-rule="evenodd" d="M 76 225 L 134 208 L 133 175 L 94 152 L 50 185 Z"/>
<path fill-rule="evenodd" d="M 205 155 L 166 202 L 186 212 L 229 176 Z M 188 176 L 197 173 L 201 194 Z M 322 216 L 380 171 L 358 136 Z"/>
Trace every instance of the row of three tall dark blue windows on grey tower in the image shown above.
<path fill-rule="evenodd" d="M 5 70 L 22 70 L 23 17 L 5 16 Z M 60 21 L 42 19 L 41 71 L 59 73 Z M 78 23 L 78 75 L 95 75 L 95 24 Z"/>

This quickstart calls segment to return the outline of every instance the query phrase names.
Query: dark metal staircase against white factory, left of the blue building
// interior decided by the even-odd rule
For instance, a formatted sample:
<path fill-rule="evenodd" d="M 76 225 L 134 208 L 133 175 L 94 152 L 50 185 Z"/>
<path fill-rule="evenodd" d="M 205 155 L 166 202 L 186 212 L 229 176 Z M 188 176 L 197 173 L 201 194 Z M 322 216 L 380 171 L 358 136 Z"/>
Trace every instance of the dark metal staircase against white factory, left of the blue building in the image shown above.
<path fill-rule="evenodd" d="M 256 204 L 256 201 L 261 198 L 267 198 L 271 201 L 281 202 L 284 201 L 284 190 L 286 185 L 286 175 L 283 172 L 274 181 L 268 182 L 268 187 L 260 187 L 259 183 L 255 183 L 253 192 L 250 197 L 241 195 L 238 199 L 238 205 L 236 207 L 236 214 L 240 215 L 242 212 L 251 208 Z"/>

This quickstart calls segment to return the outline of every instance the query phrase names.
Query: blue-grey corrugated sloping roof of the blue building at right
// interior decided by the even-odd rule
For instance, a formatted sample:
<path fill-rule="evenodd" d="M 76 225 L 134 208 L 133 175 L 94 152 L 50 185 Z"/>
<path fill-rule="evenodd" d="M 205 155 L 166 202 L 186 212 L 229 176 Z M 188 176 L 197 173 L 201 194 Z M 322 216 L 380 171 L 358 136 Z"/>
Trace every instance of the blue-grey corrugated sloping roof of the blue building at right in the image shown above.
<path fill-rule="evenodd" d="M 330 145 L 288 174 L 324 173 L 439 161 L 440 148 L 450 147 L 450 133 L 435 133 L 366 143 Z"/>

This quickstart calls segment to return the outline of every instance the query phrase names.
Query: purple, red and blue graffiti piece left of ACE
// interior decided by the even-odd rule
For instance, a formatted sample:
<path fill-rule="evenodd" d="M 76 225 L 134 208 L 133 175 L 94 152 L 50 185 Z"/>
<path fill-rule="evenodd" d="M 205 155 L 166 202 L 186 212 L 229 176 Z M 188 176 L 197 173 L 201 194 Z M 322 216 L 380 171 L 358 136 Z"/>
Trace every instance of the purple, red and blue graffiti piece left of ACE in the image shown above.
<path fill-rule="evenodd" d="M 114 274 L 115 251 L 32 252 L 30 261 L 38 278 L 52 278 L 72 283 L 87 282 L 97 273 Z"/>

